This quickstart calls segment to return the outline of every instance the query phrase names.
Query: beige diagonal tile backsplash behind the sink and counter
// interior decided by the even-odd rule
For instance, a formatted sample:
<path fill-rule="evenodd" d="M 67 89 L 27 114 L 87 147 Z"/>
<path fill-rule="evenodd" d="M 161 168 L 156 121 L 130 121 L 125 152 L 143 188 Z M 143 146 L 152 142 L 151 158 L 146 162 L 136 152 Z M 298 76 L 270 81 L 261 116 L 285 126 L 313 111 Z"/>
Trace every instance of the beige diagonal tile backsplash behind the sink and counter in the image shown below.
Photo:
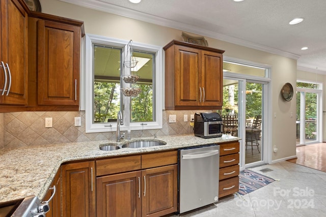
<path fill-rule="evenodd" d="M 131 138 L 193 133 L 190 114 L 197 111 L 163 111 L 163 128 L 131 131 Z M 176 114 L 177 122 L 169 123 L 169 115 Z M 188 122 L 183 115 L 188 115 Z M 74 126 L 74 117 L 82 118 L 82 126 Z M 52 117 L 52 128 L 45 128 L 45 118 Z M 11 112 L 0 113 L 0 148 L 58 144 L 98 140 L 115 140 L 115 132 L 86 133 L 85 111 L 79 112 Z"/>

